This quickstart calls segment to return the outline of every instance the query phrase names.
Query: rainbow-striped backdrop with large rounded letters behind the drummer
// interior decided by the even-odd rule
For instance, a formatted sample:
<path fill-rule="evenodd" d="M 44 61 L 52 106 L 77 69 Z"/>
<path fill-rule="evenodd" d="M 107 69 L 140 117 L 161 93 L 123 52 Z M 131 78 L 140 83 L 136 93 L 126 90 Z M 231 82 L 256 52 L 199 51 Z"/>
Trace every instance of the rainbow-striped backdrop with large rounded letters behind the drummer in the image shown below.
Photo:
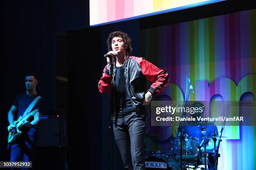
<path fill-rule="evenodd" d="M 189 100 L 255 100 L 256 10 L 141 30 L 140 52 L 169 73 L 162 95 L 172 100 L 184 100 L 187 76 L 195 88 Z M 150 126 L 162 138 L 146 138 L 146 149 L 170 150 L 174 131 Z M 255 169 L 256 127 L 226 126 L 223 136 L 219 168 Z"/>

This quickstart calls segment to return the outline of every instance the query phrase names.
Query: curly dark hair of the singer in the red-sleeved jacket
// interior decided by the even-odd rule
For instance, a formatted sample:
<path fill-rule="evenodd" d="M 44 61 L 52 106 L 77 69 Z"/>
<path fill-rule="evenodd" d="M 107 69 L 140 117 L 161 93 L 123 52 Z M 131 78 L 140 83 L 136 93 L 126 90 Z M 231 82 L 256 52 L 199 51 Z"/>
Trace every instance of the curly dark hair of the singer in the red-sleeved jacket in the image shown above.
<path fill-rule="evenodd" d="M 110 35 L 108 36 L 108 40 L 107 40 L 108 51 L 112 51 L 111 44 L 112 44 L 113 37 L 121 37 L 125 44 L 126 55 L 131 55 L 131 52 L 133 50 L 131 46 L 131 38 L 128 36 L 127 33 L 121 32 L 121 31 L 111 32 Z"/>

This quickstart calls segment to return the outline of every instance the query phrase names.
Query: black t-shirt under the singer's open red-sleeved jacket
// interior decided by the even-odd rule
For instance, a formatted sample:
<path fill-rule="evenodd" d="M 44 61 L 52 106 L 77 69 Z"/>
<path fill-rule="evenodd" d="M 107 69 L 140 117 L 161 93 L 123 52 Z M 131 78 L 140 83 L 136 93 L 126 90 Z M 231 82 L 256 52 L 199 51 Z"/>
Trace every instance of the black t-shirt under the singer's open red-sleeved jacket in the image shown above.
<path fill-rule="evenodd" d="M 118 117 L 128 115 L 135 110 L 127 91 L 126 77 L 124 72 L 125 65 L 116 67 L 116 110 Z"/>

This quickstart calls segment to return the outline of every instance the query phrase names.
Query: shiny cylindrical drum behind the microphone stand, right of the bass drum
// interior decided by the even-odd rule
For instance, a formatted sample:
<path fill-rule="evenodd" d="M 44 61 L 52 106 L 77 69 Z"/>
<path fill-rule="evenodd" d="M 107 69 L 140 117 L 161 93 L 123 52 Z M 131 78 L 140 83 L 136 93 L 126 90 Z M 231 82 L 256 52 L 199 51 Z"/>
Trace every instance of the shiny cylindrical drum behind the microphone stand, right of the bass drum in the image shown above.
<path fill-rule="evenodd" d="M 190 160 L 197 158 L 198 138 L 185 136 L 182 141 L 182 159 Z M 174 157 L 180 159 L 180 138 L 172 139 L 172 151 Z"/>

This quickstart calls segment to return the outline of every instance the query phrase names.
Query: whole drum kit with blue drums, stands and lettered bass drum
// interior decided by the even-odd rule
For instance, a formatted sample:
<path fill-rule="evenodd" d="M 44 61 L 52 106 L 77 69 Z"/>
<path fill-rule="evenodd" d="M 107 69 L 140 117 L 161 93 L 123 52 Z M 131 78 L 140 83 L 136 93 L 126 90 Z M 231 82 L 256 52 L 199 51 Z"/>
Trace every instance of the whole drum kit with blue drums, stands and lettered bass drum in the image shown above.
<path fill-rule="evenodd" d="M 219 145 L 222 137 L 222 132 L 225 126 L 225 122 L 222 126 L 220 136 L 206 136 L 207 132 L 207 121 L 200 122 L 205 124 L 205 128 L 202 129 L 202 134 L 204 135 L 204 145 L 205 149 L 201 150 L 201 144 L 198 144 L 199 139 L 192 136 L 181 135 L 173 137 L 171 144 L 172 149 L 169 152 L 159 151 L 159 150 L 144 150 L 146 170 L 207 170 L 208 169 L 208 155 L 212 155 L 214 162 L 211 164 L 214 166 L 211 169 L 217 170 L 218 166 L 218 154 Z M 208 123 L 212 123 L 209 122 Z M 178 128 L 179 129 L 179 128 Z M 181 130 L 182 132 L 182 130 Z M 161 138 L 156 135 L 148 135 L 155 138 Z M 218 147 L 216 147 L 216 142 L 218 140 Z M 207 150 L 206 139 L 211 139 L 214 141 L 214 150 Z M 181 142 L 182 141 L 182 142 Z"/>

